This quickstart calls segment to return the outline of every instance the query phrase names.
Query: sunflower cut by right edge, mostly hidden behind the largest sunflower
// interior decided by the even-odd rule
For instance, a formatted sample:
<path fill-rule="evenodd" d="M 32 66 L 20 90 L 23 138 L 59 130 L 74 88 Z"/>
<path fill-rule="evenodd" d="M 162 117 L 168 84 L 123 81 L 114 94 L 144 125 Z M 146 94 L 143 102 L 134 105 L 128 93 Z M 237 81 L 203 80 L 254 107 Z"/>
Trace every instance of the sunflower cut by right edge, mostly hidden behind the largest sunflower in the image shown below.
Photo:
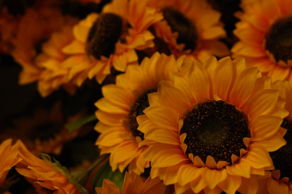
<path fill-rule="evenodd" d="M 267 171 L 263 179 L 259 180 L 258 194 L 292 193 L 292 87 L 288 81 L 277 81 L 275 88 L 279 89 L 279 96 L 286 99 L 285 109 L 289 112 L 281 127 L 287 132 L 281 134 L 287 144 L 277 151 L 270 152 L 275 170 Z"/>

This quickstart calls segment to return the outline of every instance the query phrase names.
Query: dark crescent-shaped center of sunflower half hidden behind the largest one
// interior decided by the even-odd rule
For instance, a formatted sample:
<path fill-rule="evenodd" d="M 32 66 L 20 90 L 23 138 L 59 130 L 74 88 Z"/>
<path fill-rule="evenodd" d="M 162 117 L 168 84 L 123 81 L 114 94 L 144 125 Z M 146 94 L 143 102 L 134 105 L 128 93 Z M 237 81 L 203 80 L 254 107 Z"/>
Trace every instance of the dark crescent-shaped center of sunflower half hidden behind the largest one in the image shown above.
<path fill-rule="evenodd" d="M 150 94 L 152 92 L 157 92 L 157 89 L 147 90 L 143 94 L 138 96 L 138 98 L 135 100 L 133 105 L 131 105 L 130 112 L 128 114 L 129 127 L 130 127 L 130 130 L 131 130 L 132 134 L 135 137 L 137 137 L 137 136 L 141 137 L 142 140 L 144 140 L 144 133 L 142 133 L 141 131 L 139 131 L 137 129 L 139 125 L 137 123 L 136 118 L 139 115 L 145 114 L 143 112 L 143 110 L 145 110 L 145 108 L 149 107 L 147 94 Z"/>

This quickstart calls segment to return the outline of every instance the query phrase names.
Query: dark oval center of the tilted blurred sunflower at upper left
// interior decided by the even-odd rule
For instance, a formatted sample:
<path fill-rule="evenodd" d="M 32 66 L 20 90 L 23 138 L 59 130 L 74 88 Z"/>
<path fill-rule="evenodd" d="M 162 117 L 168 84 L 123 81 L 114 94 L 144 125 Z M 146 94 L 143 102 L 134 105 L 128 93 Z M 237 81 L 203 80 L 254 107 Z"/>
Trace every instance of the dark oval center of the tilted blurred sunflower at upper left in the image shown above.
<path fill-rule="evenodd" d="M 121 36 L 122 27 L 123 20 L 118 15 L 100 14 L 88 33 L 85 47 L 87 54 L 96 59 L 100 59 L 100 56 L 109 57 Z"/>

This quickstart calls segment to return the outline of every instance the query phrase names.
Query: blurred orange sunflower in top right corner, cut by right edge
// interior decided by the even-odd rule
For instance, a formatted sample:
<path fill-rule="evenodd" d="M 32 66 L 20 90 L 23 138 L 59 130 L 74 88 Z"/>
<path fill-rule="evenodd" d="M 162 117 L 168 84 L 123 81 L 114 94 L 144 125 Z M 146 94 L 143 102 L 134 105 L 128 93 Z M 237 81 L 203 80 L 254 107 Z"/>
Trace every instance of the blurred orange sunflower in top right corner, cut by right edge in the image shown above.
<path fill-rule="evenodd" d="M 231 49 L 246 64 L 257 66 L 272 81 L 292 83 L 292 2 L 290 0 L 242 0 L 243 12 L 234 34 L 239 38 Z"/>

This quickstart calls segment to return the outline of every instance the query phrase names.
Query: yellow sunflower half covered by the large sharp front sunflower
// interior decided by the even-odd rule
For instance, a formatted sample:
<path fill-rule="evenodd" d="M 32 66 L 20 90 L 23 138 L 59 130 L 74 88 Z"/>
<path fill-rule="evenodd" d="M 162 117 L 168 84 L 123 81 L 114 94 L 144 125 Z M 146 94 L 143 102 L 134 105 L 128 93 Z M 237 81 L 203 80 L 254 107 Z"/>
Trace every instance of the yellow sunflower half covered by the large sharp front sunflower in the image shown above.
<path fill-rule="evenodd" d="M 136 117 L 148 106 L 147 94 L 157 90 L 160 80 L 170 80 L 169 71 L 178 71 L 183 62 L 183 58 L 175 61 L 173 56 L 155 53 L 140 66 L 128 66 L 126 73 L 117 76 L 116 84 L 102 87 L 104 97 L 95 103 L 99 120 L 95 130 L 100 133 L 96 145 L 101 154 L 110 153 L 113 171 L 129 165 L 129 171 L 140 174 L 149 167 L 142 159 L 146 147 L 138 148 L 143 133 L 137 130 Z"/>

